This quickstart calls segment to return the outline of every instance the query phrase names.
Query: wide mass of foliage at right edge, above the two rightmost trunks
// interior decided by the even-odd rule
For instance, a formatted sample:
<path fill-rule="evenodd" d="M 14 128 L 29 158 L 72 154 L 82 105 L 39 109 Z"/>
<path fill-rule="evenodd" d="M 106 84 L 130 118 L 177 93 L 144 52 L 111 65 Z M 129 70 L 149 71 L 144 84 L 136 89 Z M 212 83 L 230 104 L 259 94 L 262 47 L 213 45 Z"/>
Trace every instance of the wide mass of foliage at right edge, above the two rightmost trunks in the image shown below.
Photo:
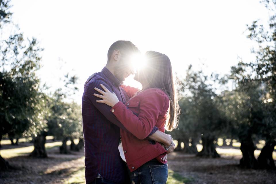
<path fill-rule="evenodd" d="M 276 1 L 263 1 L 275 14 Z M 269 20 L 269 30 L 254 21 L 248 26 L 248 38 L 258 43 L 253 48 L 253 62 L 239 62 L 231 68 L 229 80 L 236 89 L 226 92 L 226 114 L 239 137 L 248 133 L 266 140 L 276 135 L 276 15 Z M 231 107 L 231 108 L 230 108 Z"/>

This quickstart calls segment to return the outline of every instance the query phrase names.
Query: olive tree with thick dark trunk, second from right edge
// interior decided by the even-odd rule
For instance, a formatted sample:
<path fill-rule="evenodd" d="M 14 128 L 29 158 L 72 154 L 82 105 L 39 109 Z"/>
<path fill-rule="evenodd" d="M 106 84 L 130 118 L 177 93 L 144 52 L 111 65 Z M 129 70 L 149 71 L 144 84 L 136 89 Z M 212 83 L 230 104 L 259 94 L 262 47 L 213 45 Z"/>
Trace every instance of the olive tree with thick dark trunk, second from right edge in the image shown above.
<path fill-rule="evenodd" d="M 236 69 L 232 67 L 232 72 L 240 71 Z M 221 109 L 227 116 L 232 137 L 238 137 L 241 142 L 240 149 L 243 157 L 240 160 L 240 166 L 258 168 L 258 162 L 254 157 L 256 146 L 252 136 L 259 134 L 258 129 L 263 117 L 260 107 L 262 93 L 258 83 L 246 79 L 246 76 L 241 73 L 239 75 L 242 77 L 237 79 L 236 89 L 223 92 Z"/>

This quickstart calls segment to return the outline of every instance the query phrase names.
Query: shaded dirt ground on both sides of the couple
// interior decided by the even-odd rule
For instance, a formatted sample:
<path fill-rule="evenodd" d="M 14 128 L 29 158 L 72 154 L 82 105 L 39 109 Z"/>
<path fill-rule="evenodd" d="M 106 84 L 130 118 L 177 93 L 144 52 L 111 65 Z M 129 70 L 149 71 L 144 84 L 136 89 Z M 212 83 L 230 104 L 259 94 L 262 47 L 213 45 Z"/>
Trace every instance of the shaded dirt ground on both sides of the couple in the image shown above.
<path fill-rule="evenodd" d="M 17 148 L 30 146 L 22 143 Z M 3 150 L 15 148 L 3 145 Z M 58 146 L 47 150 L 49 158 L 30 158 L 20 154 L 6 160 L 15 169 L 0 172 L 1 184 L 85 183 L 84 151 L 59 154 Z M 23 156 L 22 156 L 23 155 Z M 241 156 L 198 158 L 195 155 L 174 152 L 168 155 L 169 169 L 186 178 L 189 184 L 276 184 L 276 170 L 241 169 L 237 165 Z M 183 182 L 179 182 L 183 183 Z M 173 184 L 173 183 L 171 183 Z"/>

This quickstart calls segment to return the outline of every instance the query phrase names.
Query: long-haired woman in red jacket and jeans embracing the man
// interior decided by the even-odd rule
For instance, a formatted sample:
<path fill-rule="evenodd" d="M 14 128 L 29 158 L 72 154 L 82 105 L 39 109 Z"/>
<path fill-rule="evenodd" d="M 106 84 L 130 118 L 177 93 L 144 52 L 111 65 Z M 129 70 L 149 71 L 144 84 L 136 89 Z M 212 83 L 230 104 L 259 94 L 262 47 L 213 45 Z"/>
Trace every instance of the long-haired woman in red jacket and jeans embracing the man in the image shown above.
<path fill-rule="evenodd" d="M 97 102 L 112 107 L 111 112 L 130 132 L 120 130 L 122 145 L 119 147 L 132 183 L 166 183 L 166 148 L 145 138 L 154 126 L 164 132 L 166 123 L 166 129 L 173 130 L 177 126 L 179 106 L 168 56 L 155 51 L 147 51 L 145 56 L 147 66 L 134 77 L 142 84 L 142 90 L 122 86 L 131 97 L 127 103 L 120 102 L 103 85 L 104 91 L 95 88 L 101 95 L 94 95 L 102 98 Z"/>

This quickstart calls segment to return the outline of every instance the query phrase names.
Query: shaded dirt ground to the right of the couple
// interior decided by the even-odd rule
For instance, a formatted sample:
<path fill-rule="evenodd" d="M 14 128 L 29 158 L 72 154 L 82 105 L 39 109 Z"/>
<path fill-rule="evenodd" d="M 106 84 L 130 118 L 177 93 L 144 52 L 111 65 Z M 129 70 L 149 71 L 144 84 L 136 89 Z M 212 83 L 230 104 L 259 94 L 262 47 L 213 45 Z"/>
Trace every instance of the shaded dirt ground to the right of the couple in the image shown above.
<path fill-rule="evenodd" d="M 168 166 L 193 184 L 276 184 L 276 170 L 254 170 L 238 167 L 241 156 L 198 158 L 174 152 L 168 155 Z"/>

